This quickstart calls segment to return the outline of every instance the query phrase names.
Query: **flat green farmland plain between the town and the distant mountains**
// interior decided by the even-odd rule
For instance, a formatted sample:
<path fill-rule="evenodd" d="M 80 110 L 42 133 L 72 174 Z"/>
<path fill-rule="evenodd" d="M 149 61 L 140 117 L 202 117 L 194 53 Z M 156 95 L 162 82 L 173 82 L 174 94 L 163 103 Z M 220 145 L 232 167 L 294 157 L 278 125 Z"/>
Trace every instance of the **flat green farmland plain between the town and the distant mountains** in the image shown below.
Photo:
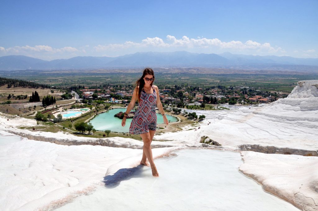
<path fill-rule="evenodd" d="M 18 71 L 0 72 L 2 77 L 23 79 L 40 84 L 57 87 L 72 85 L 83 85 L 88 87 L 99 87 L 103 85 L 134 86 L 135 81 L 141 77 L 138 73 L 105 72 L 105 71 Z M 36 80 L 34 79 L 36 78 Z M 193 74 L 193 73 L 163 73 L 155 71 L 155 84 L 159 88 L 169 88 L 174 85 L 209 87 L 216 85 L 224 86 L 246 86 L 261 91 L 274 91 L 290 93 L 300 80 L 318 79 L 317 74 Z M 18 87 L 17 87 L 18 88 Z M 131 88 L 130 88 L 131 89 Z M 1 92 L 6 90 L 5 86 L 0 88 Z M 30 90 L 31 91 L 31 90 Z M 11 92 L 11 91 L 10 91 Z M 14 92 L 14 91 L 13 91 Z M 44 91 L 45 92 L 45 91 Z M 32 93 L 32 92 L 31 92 Z M 55 95 L 61 94 L 59 92 Z M 1 102 L 1 99 L 0 99 Z"/>

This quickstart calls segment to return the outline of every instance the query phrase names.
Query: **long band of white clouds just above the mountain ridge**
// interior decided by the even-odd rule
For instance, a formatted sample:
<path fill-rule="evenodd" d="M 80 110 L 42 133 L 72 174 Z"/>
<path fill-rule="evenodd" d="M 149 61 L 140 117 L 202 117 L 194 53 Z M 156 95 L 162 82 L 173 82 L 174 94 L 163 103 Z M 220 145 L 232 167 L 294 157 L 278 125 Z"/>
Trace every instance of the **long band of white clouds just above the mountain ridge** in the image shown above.
<path fill-rule="evenodd" d="M 272 46 L 270 43 L 259 43 L 254 40 L 222 41 L 218 38 L 182 36 L 179 39 L 172 35 L 165 38 L 146 37 L 140 42 L 126 41 L 123 43 L 112 43 L 106 45 L 82 45 L 78 48 L 65 46 L 54 48 L 48 45 L 35 46 L 14 46 L 4 48 L 0 46 L 0 56 L 4 55 L 25 55 L 34 58 L 56 59 L 72 58 L 75 56 L 120 56 L 138 51 L 189 51 L 194 53 L 223 53 L 229 51 L 233 54 L 252 55 L 288 55 L 294 57 L 317 58 L 317 50 L 294 49 L 291 52 L 284 51 L 279 46 Z"/>

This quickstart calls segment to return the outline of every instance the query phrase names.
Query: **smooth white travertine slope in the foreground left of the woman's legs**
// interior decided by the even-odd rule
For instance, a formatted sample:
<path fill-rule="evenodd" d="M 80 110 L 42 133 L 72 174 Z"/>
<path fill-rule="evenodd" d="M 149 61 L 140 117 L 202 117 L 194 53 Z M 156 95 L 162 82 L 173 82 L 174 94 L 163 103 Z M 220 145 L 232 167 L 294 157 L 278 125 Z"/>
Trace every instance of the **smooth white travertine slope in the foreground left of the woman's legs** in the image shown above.
<path fill-rule="evenodd" d="M 2 140 L 14 139 L 9 143 Z M 60 145 L 0 131 L 0 210 L 48 210 L 90 193 L 107 174 L 137 166 L 142 149 Z M 176 149 L 153 149 L 153 156 Z M 120 163 L 120 165 L 119 165 Z"/>

